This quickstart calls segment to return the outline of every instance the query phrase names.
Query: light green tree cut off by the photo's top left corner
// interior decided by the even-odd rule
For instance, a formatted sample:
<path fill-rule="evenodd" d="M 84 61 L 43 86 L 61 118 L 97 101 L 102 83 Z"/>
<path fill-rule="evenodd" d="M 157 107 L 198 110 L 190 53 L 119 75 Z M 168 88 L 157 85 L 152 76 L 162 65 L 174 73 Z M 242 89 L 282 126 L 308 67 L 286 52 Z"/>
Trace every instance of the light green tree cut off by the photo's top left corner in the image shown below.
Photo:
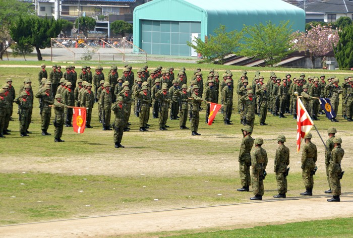
<path fill-rule="evenodd" d="M 31 3 L 17 0 L 0 0 L 0 59 L 12 44 L 9 27 L 18 16 L 31 15 Z"/>

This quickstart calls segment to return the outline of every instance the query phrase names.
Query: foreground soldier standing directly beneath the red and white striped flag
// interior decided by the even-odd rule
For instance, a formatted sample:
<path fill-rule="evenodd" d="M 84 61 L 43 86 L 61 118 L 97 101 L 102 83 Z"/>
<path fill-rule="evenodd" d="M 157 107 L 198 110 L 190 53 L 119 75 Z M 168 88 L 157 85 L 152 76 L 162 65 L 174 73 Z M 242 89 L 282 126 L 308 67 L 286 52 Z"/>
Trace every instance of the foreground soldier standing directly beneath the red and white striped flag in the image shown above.
<path fill-rule="evenodd" d="M 305 135 L 305 146 L 302 152 L 302 175 L 303 182 L 306 188 L 306 192 L 301 193 L 303 196 L 313 196 L 313 187 L 314 187 L 314 173 L 315 173 L 315 163 L 318 158 L 318 153 L 316 149 L 316 145 L 311 142 L 311 138 L 313 136 L 309 132 Z"/>

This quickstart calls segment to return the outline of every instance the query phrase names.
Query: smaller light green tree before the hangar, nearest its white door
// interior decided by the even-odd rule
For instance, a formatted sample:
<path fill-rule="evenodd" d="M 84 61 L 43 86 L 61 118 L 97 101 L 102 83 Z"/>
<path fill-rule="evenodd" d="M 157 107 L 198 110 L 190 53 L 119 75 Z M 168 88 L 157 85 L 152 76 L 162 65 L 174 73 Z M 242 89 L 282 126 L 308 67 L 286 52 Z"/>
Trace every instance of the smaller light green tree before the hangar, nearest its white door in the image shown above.
<path fill-rule="evenodd" d="M 219 25 L 219 28 L 214 30 L 214 35 L 210 35 L 205 42 L 195 38 L 192 42 L 187 41 L 187 45 L 203 56 L 199 63 L 223 64 L 228 54 L 237 52 L 242 36 L 242 32 L 237 30 L 227 32 L 224 25 Z"/>

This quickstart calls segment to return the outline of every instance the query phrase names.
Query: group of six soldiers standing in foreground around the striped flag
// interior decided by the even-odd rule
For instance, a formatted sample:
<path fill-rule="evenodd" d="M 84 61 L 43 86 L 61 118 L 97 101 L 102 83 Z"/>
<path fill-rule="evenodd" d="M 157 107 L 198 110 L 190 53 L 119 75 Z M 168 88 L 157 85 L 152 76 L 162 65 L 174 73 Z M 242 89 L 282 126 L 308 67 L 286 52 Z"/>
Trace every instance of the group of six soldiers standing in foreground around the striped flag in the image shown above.
<path fill-rule="evenodd" d="M 242 188 L 237 189 L 239 192 L 249 192 L 250 185 L 252 186 L 254 197 L 250 200 L 262 200 L 264 195 L 264 180 L 266 177 L 266 166 L 268 163 L 267 153 L 262 145 L 262 138 L 253 139 L 251 137 L 253 129 L 250 126 L 245 126 L 242 129 L 243 140 L 239 152 L 239 171 Z M 325 148 L 325 164 L 326 175 L 329 185 L 329 190 L 326 194 L 332 194 L 328 202 L 340 202 L 341 184 L 340 180 L 343 176 L 341 161 L 344 156 L 344 150 L 341 148 L 342 139 L 335 137 L 337 130 L 329 128 L 327 130 L 329 139 L 326 141 Z M 305 146 L 302 152 L 302 176 L 306 191 L 301 193 L 302 196 L 313 196 L 314 175 L 317 170 L 317 147 L 311 142 L 312 134 L 308 133 L 305 137 Z M 278 148 L 274 157 L 274 172 L 276 175 L 278 195 L 274 198 L 286 198 L 287 193 L 287 176 L 289 173 L 289 149 L 284 145 L 285 136 L 277 137 Z M 252 148 L 255 145 L 255 149 Z M 250 173 L 251 168 L 251 173 Z"/>

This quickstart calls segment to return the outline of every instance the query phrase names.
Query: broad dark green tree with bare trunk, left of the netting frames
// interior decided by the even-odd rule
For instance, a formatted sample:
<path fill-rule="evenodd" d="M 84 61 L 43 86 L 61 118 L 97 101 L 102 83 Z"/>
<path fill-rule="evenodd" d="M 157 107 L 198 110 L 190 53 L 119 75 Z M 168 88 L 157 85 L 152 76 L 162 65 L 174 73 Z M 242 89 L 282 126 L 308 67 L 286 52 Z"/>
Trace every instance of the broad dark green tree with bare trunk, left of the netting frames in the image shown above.
<path fill-rule="evenodd" d="M 20 45 L 32 45 L 37 51 L 38 61 L 43 59 L 40 49 L 50 46 L 50 39 L 61 31 L 60 21 L 37 16 L 19 17 L 10 26 L 10 35 Z"/>

